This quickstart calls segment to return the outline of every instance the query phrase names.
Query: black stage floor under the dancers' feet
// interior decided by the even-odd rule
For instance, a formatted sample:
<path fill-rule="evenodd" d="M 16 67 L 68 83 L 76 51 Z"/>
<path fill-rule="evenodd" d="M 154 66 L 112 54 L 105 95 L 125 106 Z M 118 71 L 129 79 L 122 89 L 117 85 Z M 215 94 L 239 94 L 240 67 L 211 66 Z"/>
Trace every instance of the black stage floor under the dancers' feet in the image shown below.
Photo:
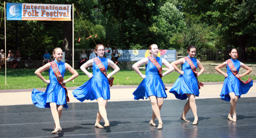
<path fill-rule="evenodd" d="M 241 98 L 237 122 L 227 119 L 230 104 L 216 99 L 196 99 L 199 124 L 192 125 L 191 110 L 180 120 L 186 101 L 165 100 L 161 115 L 163 129 L 149 126 L 151 103 L 148 100 L 108 102 L 110 127 L 94 128 L 97 103 L 69 103 L 63 110 L 63 132 L 52 135 L 53 119 L 49 108 L 34 105 L 0 106 L 0 137 L 256 137 L 256 99 Z M 101 122 L 103 125 L 104 122 Z"/>

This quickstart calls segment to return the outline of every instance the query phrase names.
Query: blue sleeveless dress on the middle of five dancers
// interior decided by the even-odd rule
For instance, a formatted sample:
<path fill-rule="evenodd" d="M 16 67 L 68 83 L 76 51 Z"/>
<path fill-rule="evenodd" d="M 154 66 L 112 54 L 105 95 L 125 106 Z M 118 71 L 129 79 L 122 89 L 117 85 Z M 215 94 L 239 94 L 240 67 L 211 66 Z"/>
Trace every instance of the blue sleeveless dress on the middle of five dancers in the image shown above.
<path fill-rule="evenodd" d="M 162 66 L 162 57 L 156 57 L 155 59 Z M 158 69 L 150 59 L 148 59 L 148 64 L 146 65 L 146 77 L 139 84 L 133 95 L 134 99 L 137 100 L 144 99 L 144 97 L 147 99 L 152 95 L 158 98 L 167 98 L 163 80 L 159 76 Z"/>

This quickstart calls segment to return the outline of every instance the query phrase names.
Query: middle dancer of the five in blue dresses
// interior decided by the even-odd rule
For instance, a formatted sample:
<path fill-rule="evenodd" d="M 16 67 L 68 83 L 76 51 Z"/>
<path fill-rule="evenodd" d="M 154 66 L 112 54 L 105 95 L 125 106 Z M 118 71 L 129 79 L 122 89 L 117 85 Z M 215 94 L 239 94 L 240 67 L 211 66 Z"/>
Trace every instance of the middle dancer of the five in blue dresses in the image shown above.
<path fill-rule="evenodd" d="M 151 44 L 150 47 L 151 56 L 143 58 L 133 65 L 133 69 L 136 73 L 143 78 L 143 81 L 139 84 L 138 88 L 134 91 L 134 99 L 150 99 L 152 106 L 152 118 L 150 125 L 156 127 L 155 118 L 158 119 L 158 129 L 163 128 L 163 122 L 160 116 L 160 110 L 163 105 L 163 98 L 167 98 L 162 76 L 166 76 L 171 73 L 174 68 L 169 64 L 167 60 L 162 57 L 158 57 L 158 45 Z M 152 61 L 157 62 L 152 62 Z M 139 71 L 139 66 L 146 65 L 146 75 L 143 75 Z M 166 65 L 168 70 L 162 74 L 162 64 Z M 158 68 L 156 67 L 158 66 Z M 160 70 L 160 71 L 159 71 Z"/>

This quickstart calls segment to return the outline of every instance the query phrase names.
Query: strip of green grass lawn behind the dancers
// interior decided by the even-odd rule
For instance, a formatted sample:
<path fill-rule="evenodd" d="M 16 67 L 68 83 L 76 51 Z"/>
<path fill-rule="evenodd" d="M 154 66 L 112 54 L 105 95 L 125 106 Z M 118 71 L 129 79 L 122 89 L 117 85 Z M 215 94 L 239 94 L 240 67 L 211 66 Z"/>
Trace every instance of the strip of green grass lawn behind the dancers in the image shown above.
<path fill-rule="evenodd" d="M 47 84 L 44 83 L 40 78 L 38 78 L 34 72 L 36 69 L 7 69 L 7 85 L 5 86 L 5 69 L 0 69 L 0 90 L 4 89 L 32 89 L 32 88 L 40 88 L 46 87 Z M 111 71 L 111 70 L 109 70 Z M 77 70 L 79 73 L 79 77 L 77 77 L 74 83 L 68 82 L 66 84 L 67 87 L 77 87 L 81 86 L 83 83 L 89 80 L 89 78 L 81 71 Z M 92 73 L 92 70 L 89 70 Z M 145 70 L 142 69 L 141 72 L 145 74 Z M 46 79 L 48 77 L 48 71 L 42 73 Z M 66 72 L 64 80 L 71 76 L 71 73 Z M 114 76 L 114 85 L 139 85 L 141 83 L 142 78 L 138 76 L 131 69 L 121 69 Z M 172 72 L 168 74 L 168 76 L 163 77 L 164 83 L 174 83 L 179 77 L 179 73 Z M 254 80 L 256 76 L 250 76 Z M 247 76 L 243 78 L 243 80 L 247 79 Z M 222 82 L 224 81 L 224 77 L 221 74 L 202 74 L 199 77 L 201 82 Z"/>

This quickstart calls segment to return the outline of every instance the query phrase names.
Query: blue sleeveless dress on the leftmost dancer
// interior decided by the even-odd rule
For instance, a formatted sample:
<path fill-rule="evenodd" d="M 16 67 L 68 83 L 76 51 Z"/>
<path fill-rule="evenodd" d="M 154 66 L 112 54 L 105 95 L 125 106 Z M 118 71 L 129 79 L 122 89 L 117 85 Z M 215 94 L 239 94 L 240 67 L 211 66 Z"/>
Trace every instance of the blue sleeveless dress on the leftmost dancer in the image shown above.
<path fill-rule="evenodd" d="M 60 70 L 62 77 L 65 75 L 65 62 L 57 62 L 54 60 L 57 67 Z M 63 105 L 68 108 L 66 91 L 61 84 L 57 81 L 57 78 L 53 72 L 52 66 L 48 70 L 50 83 L 46 87 L 46 92 L 34 89 L 31 94 L 32 102 L 39 108 L 50 108 L 49 103 L 55 102 L 57 105 Z"/>

